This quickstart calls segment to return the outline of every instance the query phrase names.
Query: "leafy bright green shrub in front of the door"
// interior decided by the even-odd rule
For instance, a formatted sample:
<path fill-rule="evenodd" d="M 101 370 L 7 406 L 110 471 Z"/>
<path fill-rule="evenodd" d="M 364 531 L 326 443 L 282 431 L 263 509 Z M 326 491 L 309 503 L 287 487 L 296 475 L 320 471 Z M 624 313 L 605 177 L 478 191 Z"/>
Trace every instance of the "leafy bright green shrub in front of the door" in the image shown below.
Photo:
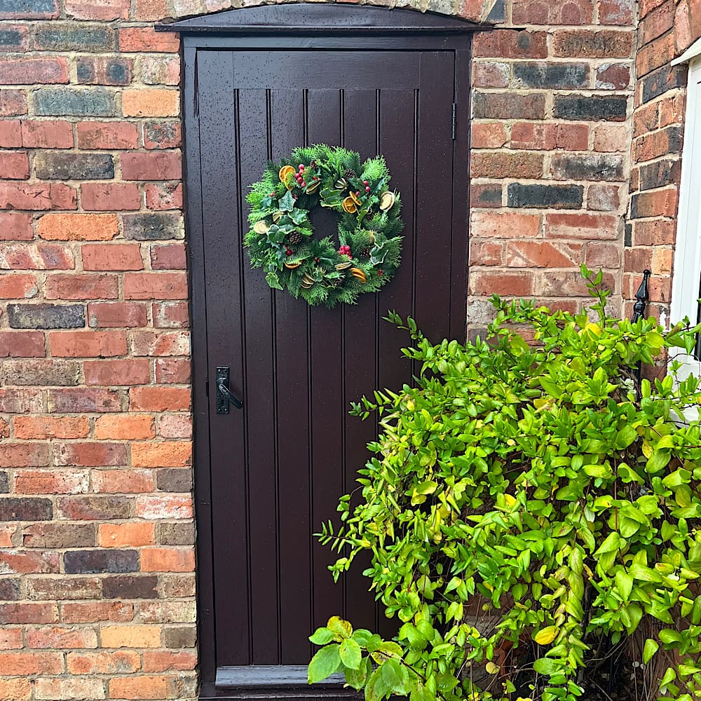
<path fill-rule="evenodd" d="M 311 682 L 342 670 L 369 701 L 571 701 L 594 646 L 643 631 L 655 693 L 701 695 L 701 435 L 679 421 L 699 381 L 675 381 L 676 363 L 653 382 L 634 374 L 694 336 L 607 318 L 601 273 L 583 274 L 596 323 L 495 298 L 486 340 L 433 345 L 390 315 L 420 377 L 354 406 L 381 433 L 362 503 L 343 496 L 340 530 L 319 536 L 336 579 L 372 554 L 365 575 L 401 628 L 384 641 L 332 618 L 311 637 Z"/>

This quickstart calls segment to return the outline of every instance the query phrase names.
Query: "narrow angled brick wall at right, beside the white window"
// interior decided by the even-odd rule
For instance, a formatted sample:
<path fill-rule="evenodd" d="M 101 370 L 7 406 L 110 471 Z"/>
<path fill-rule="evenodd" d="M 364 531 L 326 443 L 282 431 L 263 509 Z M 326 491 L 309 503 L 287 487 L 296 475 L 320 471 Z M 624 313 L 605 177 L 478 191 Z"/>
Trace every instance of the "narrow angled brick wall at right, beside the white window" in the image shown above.
<path fill-rule="evenodd" d="M 651 313 L 662 318 L 669 313 L 672 294 L 686 109 L 686 66 L 673 68 L 669 63 L 698 36 L 701 36 L 701 7 L 697 3 L 641 0 L 630 229 L 623 280 L 625 296 L 631 299 L 639 284 L 639 271 L 650 268 L 653 271 Z"/>

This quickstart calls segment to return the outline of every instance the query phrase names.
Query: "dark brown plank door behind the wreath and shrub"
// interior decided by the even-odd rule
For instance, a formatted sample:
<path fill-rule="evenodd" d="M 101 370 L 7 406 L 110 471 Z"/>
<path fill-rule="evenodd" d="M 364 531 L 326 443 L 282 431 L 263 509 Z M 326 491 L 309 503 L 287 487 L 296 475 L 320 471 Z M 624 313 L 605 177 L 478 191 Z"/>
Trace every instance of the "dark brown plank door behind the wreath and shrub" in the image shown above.
<path fill-rule="evenodd" d="M 311 534 L 335 517 L 375 435 L 349 403 L 411 381 L 407 336 L 381 317 L 393 309 L 434 339 L 464 336 L 467 193 L 454 170 L 466 175 L 457 148 L 467 140 L 454 139 L 453 50 L 198 50 L 193 65 L 196 497 L 198 531 L 211 529 L 198 563 L 200 644 L 215 658 L 203 669 L 205 681 L 217 669 L 212 695 L 238 686 L 246 697 L 266 674 L 247 669 L 245 690 L 240 667 L 283 665 L 292 680 L 329 615 L 380 622 L 367 580 L 356 570 L 334 584 L 332 556 Z M 242 248 L 247 186 L 268 159 L 314 143 L 384 154 L 404 203 L 399 273 L 332 311 L 271 291 Z M 312 218 L 320 236 L 336 231 L 332 213 Z M 231 368 L 243 410 L 215 413 L 219 366 Z"/>

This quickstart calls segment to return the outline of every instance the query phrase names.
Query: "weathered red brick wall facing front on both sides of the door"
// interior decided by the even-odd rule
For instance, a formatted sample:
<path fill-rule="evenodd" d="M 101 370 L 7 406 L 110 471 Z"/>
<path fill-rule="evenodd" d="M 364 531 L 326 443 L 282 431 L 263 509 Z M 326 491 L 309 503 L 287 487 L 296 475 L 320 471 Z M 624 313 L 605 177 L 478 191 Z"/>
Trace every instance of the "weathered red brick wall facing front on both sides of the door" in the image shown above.
<path fill-rule="evenodd" d="M 581 261 L 622 289 L 631 1 L 416 0 L 501 27 L 473 325 L 492 292 L 575 308 Z M 178 40 L 150 25 L 224 6 L 0 3 L 0 701 L 196 694 Z"/>

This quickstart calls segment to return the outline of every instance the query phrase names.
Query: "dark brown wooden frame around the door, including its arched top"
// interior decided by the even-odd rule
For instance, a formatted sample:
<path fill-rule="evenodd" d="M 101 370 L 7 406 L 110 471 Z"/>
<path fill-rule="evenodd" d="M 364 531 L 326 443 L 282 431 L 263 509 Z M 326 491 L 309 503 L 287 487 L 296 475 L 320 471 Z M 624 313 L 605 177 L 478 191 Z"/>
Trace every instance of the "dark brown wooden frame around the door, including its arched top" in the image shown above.
<path fill-rule="evenodd" d="M 470 67 L 472 32 L 490 25 L 458 20 L 447 15 L 409 9 L 350 4 L 289 4 L 225 11 L 172 24 L 156 25 L 157 31 L 182 34 L 182 114 L 184 141 L 185 226 L 190 278 L 192 325 L 192 395 L 194 445 L 194 500 L 196 517 L 196 580 L 198 601 L 198 654 L 200 699 L 235 698 L 215 686 L 215 591 L 213 585 L 212 499 L 210 484 L 210 416 L 205 328 L 204 238 L 201 216 L 199 124 L 196 94 L 198 50 L 442 50 L 455 57 L 453 221 L 465 232 L 459 259 L 451 261 L 451 299 L 467 303 L 467 290 L 458 289 L 468 266 L 468 213 L 470 186 Z M 458 270 L 463 271 L 458 274 Z M 463 283 L 464 284 L 464 283 Z M 461 313 L 452 314 L 459 319 Z M 451 328 L 451 335 L 465 335 Z M 214 382 L 212 381 L 212 388 Z M 242 602 L 245 605 L 245 602 Z M 299 692 L 295 696 L 304 695 Z M 275 695 L 277 696 L 277 695 Z"/>

